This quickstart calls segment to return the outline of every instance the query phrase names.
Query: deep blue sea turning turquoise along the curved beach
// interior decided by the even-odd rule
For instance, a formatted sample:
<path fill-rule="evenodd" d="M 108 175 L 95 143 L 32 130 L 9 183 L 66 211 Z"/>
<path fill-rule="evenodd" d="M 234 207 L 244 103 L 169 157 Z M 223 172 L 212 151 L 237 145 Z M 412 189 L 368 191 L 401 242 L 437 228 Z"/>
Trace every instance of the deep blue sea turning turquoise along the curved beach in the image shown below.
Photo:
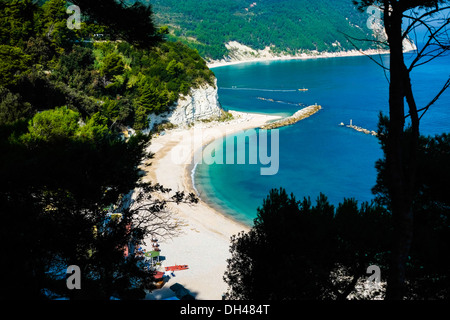
<path fill-rule="evenodd" d="M 387 55 L 375 58 L 388 65 Z M 283 187 L 298 200 L 309 196 L 313 203 L 321 192 L 334 205 L 344 198 L 373 199 L 374 165 L 382 157 L 378 140 L 339 124 L 352 120 L 376 131 L 379 113 L 388 112 L 388 81 L 377 64 L 359 56 L 245 63 L 213 71 L 225 109 L 291 115 L 317 103 L 322 110 L 280 129 L 276 175 L 261 175 L 261 164 L 198 165 L 195 185 L 202 199 L 249 225 L 272 188 Z M 450 57 L 414 70 L 413 90 L 419 105 L 432 99 L 449 73 Z M 449 91 L 421 122 L 422 134 L 443 132 L 450 132 Z M 226 141 L 220 143 L 225 148 Z"/>

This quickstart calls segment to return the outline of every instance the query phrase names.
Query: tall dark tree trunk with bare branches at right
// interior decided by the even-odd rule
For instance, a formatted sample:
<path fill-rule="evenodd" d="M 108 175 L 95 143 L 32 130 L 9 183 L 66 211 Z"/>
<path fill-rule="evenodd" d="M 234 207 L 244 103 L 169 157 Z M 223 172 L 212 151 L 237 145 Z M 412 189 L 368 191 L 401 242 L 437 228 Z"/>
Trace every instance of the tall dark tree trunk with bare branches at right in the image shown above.
<path fill-rule="evenodd" d="M 415 67 L 423 65 L 450 48 L 448 25 L 445 15 L 439 12 L 449 10 L 446 0 L 361 0 L 353 1 L 364 10 L 376 5 L 382 11 L 389 47 L 389 120 L 384 134 L 385 167 L 388 172 L 390 209 L 392 210 L 396 239 L 392 248 L 391 277 L 388 282 L 387 299 L 403 299 L 405 295 L 406 265 L 414 235 L 414 190 L 417 183 L 420 119 L 450 86 L 450 78 L 445 81 L 435 98 L 422 108 L 417 104 L 411 81 Z M 438 17 L 438 18 L 436 18 Z M 405 26 L 406 24 L 406 26 Z M 407 66 L 404 57 L 404 40 L 414 37 L 419 27 L 427 30 L 427 42 L 416 51 L 416 57 Z M 378 40 L 377 40 L 378 41 Z M 406 120 L 411 126 L 407 129 Z M 407 134 L 406 131 L 410 130 Z"/>

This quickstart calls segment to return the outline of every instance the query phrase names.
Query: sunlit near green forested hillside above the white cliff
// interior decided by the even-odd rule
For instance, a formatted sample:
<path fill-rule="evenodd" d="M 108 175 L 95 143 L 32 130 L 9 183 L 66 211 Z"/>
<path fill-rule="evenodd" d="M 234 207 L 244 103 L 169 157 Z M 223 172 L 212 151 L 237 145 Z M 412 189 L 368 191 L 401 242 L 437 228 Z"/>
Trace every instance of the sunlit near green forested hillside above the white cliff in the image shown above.
<path fill-rule="evenodd" d="M 214 83 L 203 59 L 180 42 L 136 48 L 101 25 L 67 28 L 66 1 L 7 3 L 0 8 L 0 124 L 67 106 L 86 121 L 98 114 L 110 126 L 144 129 L 148 114 L 166 111 L 191 87 Z M 14 117 L 5 100 L 11 97 L 27 106 Z"/>

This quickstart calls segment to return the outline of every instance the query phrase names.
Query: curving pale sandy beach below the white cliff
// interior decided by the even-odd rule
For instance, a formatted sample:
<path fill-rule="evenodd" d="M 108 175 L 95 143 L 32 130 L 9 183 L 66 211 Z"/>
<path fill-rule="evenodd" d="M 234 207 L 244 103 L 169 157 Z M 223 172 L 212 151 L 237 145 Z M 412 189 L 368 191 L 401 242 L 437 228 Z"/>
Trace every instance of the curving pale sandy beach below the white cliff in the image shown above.
<path fill-rule="evenodd" d="M 144 181 L 158 182 L 174 192 L 194 192 L 191 170 L 196 151 L 225 135 L 261 127 L 281 118 L 236 111 L 231 113 L 234 119 L 227 122 L 199 122 L 191 128 L 173 129 L 154 137 L 149 151 L 155 156 L 143 166 L 146 171 Z M 198 204 L 169 207 L 174 218 L 180 221 L 180 235 L 172 239 L 159 239 L 161 256 L 165 257 L 164 266 L 187 264 L 189 269 L 175 272 L 175 277 L 147 298 L 173 296 L 170 286 L 179 283 L 195 299 L 222 299 L 222 294 L 227 290 L 223 275 L 230 255 L 230 237 L 241 231 L 248 231 L 249 227 L 211 208 L 202 199 Z M 144 248 L 150 250 L 150 239 L 146 243 Z"/>

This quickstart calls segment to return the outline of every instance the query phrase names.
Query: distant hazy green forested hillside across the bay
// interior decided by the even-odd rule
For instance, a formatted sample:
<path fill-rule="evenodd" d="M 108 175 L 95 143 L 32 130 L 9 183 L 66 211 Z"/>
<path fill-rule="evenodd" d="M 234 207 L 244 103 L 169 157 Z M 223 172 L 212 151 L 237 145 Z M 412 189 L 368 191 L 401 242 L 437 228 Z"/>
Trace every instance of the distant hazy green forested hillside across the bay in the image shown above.
<path fill-rule="evenodd" d="M 130 0 L 151 3 L 156 22 L 169 25 L 171 38 L 196 48 L 205 58 L 227 54 L 225 43 L 275 52 L 354 49 L 345 35 L 366 39 L 368 14 L 351 0 Z M 370 43 L 358 42 L 362 49 Z"/>

